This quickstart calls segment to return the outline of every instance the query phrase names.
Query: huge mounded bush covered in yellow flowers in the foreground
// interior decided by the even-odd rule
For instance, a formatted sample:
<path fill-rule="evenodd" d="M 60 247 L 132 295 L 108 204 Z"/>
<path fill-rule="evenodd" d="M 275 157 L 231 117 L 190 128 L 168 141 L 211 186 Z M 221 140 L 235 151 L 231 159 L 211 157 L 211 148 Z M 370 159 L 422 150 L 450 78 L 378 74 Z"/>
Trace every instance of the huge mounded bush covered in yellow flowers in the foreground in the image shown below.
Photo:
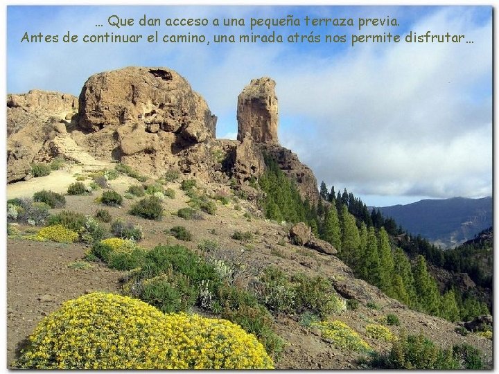
<path fill-rule="evenodd" d="M 273 368 L 253 335 L 229 321 L 163 314 L 95 292 L 40 322 L 15 366 L 37 369 Z"/>

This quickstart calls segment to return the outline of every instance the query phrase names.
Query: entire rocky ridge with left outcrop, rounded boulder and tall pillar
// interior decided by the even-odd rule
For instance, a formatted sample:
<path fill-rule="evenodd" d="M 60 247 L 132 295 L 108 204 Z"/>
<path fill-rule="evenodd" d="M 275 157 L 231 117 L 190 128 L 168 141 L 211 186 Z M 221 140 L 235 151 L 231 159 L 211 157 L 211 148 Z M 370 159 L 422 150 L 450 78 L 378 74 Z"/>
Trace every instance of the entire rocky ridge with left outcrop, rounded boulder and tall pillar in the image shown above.
<path fill-rule="evenodd" d="M 275 82 L 267 77 L 252 80 L 238 96 L 238 141 L 216 139 L 217 118 L 206 101 L 164 67 L 91 75 L 78 100 L 46 91 L 9 95 L 7 107 L 8 183 L 30 177 L 35 161 L 81 161 L 77 155 L 85 154 L 87 161 L 120 161 L 150 176 L 173 169 L 247 186 L 263 173 L 263 154 L 269 154 L 304 199 L 318 199 L 313 172 L 279 145 Z"/>

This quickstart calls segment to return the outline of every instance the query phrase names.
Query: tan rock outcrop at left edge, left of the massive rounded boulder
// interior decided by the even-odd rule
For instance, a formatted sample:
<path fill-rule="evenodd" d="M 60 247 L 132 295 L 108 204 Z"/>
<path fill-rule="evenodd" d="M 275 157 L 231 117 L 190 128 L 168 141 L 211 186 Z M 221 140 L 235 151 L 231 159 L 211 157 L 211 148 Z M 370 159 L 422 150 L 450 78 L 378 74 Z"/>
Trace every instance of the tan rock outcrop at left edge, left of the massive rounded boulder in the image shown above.
<path fill-rule="evenodd" d="M 50 159 L 49 145 L 78 110 L 78 99 L 53 91 L 7 96 L 7 183 L 28 176 L 35 161 Z"/>

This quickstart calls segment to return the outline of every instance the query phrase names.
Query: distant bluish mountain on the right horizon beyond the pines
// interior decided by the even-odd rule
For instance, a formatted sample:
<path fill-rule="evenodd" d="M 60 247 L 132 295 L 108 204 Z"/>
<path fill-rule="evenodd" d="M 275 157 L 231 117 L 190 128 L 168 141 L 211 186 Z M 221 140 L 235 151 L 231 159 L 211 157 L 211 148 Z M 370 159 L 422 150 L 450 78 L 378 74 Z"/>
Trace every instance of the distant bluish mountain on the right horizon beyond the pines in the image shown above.
<path fill-rule="evenodd" d="M 409 233 L 421 234 L 433 244 L 448 248 L 472 239 L 492 226 L 492 205 L 491 197 L 453 197 L 425 199 L 379 209 L 385 217 L 393 217 Z"/>

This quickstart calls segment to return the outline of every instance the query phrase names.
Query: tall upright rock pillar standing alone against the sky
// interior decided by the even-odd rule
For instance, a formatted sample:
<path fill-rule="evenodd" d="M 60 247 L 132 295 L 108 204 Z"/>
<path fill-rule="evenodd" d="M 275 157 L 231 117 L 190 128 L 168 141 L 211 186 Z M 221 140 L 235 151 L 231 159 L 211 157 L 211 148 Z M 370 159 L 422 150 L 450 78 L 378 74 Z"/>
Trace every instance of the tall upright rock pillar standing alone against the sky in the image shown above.
<path fill-rule="evenodd" d="M 253 79 L 239 94 L 237 107 L 238 141 L 246 134 L 255 143 L 279 143 L 279 121 L 274 80 L 263 77 Z"/>

